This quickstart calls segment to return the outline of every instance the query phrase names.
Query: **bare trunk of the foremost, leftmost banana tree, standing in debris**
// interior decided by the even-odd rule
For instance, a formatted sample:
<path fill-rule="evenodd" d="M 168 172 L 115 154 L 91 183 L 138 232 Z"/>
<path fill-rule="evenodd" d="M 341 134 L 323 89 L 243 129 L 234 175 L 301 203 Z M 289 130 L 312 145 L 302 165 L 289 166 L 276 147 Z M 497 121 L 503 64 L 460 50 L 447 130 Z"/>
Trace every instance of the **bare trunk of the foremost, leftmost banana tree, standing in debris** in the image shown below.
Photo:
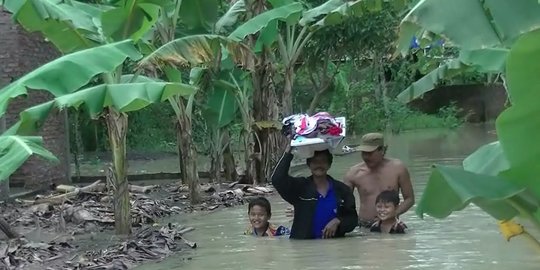
<path fill-rule="evenodd" d="M 116 234 L 127 235 L 131 233 L 131 204 L 126 162 L 128 118 L 125 113 L 119 113 L 109 108 L 105 121 L 113 159 L 114 228 Z"/>

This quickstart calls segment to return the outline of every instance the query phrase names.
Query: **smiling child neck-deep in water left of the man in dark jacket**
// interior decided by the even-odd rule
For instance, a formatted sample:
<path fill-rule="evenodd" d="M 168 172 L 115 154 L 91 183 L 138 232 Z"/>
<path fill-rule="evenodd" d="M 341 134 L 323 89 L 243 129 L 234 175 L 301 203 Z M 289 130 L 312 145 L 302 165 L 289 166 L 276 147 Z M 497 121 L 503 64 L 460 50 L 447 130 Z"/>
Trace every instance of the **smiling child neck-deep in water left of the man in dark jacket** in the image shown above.
<path fill-rule="evenodd" d="M 279 236 L 290 234 L 285 226 L 276 227 L 270 222 L 272 211 L 270 202 L 264 197 L 258 197 L 249 202 L 248 216 L 251 226 L 244 232 L 254 236 Z"/>

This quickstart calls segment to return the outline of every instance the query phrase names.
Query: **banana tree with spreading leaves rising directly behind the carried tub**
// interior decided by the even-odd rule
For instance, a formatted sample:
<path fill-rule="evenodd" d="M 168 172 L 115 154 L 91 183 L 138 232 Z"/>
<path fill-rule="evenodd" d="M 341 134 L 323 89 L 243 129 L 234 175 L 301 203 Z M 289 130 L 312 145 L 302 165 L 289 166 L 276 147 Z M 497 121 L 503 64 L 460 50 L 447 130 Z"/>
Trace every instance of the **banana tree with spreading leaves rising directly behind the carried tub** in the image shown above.
<path fill-rule="evenodd" d="M 229 37 L 243 40 L 248 35 L 259 33 L 255 45 L 257 52 L 260 52 L 263 46 L 271 47 L 277 43 L 277 52 L 284 69 L 282 113 L 290 115 L 292 113 L 295 68 L 302 51 L 313 34 L 321 28 L 340 24 L 347 17 L 380 11 L 383 1 L 329 0 L 311 9 L 305 9 L 300 2 L 295 1 L 270 2 L 273 5 L 272 9 L 239 26 Z"/>

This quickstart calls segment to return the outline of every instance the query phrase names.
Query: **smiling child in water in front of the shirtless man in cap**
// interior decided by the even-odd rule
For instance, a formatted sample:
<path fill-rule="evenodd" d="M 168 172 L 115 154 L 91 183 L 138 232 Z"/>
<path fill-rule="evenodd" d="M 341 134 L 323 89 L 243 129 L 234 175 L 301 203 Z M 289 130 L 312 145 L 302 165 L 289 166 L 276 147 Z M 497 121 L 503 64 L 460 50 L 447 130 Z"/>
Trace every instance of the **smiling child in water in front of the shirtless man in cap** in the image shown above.
<path fill-rule="evenodd" d="M 378 220 L 370 231 L 380 233 L 405 233 L 407 225 L 396 217 L 399 206 L 399 194 L 394 190 L 385 190 L 375 199 Z"/>

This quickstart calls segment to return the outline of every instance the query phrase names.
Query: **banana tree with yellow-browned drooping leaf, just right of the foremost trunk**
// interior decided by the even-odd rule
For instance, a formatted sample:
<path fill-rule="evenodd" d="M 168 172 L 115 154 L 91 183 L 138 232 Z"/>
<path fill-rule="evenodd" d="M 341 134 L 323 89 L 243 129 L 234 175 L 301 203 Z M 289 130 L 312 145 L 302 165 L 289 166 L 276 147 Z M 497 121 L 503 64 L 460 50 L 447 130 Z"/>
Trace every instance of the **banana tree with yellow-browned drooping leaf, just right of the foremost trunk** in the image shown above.
<path fill-rule="evenodd" d="M 218 1 L 217 0 L 205 0 L 205 1 L 175 0 L 172 2 L 174 2 L 174 6 L 175 6 L 174 12 L 171 11 L 168 13 L 163 13 L 161 16 L 161 19 L 156 24 L 155 34 L 158 37 L 156 40 L 159 40 L 159 45 L 162 46 L 160 48 L 161 51 L 156 52 L 155 54 L 152 54 L 147 59 L 150 61 L 153 61 L 151 59 L 156 60 L 156 59 L 159 59 L 163 55 L 169 54 L 173 56 L 172 58 L 177 58 L 177 59 L 173 60 L 171 63 L 153 62 L 151 64 L 154 66 L 172 65 L 172 66 L 176 66 L 176 68 L 184 68 L 185 64 L 189 64 L 192 67 L 192 70 L 191 70 L 192 75 L 201 75 L 201 74 L 209 74 L 212 72 L 217 72 L 221 66 L 220 44 L 225 45 L 225 47 L 229 49 L 233 57 L 236 54 L 236 50 L 234 48 L 234 46 L 236 45 L 224 39 L 220 40 L 218 36 L 211 35 L 211 33 L 214 33 L 214 29 L 216 27 L 217 10 L 219 7 Z M 182 38 L 182 41 L 176 40 L 178 42 L 173 42 L 175 37 L 178 37 L 178 36 Z M 168 46 L 165 46 L 165 45 L 168 45 Z M 196 52 L 196 53 L 194 54 L 193 52 Z M 225 52 L 225 53 L 228 53 L 228 52 Z M 181 55 L 185 55 L 186 57 L 183 57 Z M 181 57 L 178 57 L 178 56 L 181 56 Z M 167 60 L 171 60 L 172 58 L 168 58 Z M 205 72 L 201 73 L 201 70 L 198 69 L 198 66 L 200 65 L 208 67 L 208 69 L 206 69 Z M 170 69 L 170 68 L 167 68 L 167 69 Z M 165 72 L 165 73 L 166 73 L 166 76 L 170 80 L 171 77 L 169 76 L 169 74 L 171 73 L 170 72 Z M 193 78 L 197 76 L 190 76 L 190 77 Z M 192 83 L 199 86 L 199 88 L 201 89 L 200 91 L 201 95 L 206 95 L 206 93 L 212 89 L 212 82 L 210 81 L 209 76 L 203 76 L 202 79 L 200 79 L 199 77 L 195 80 L 192 80 Z M 183 175 L 182 178 L 183 179 L 190 178 L 193 180 L 197 179 L 196 181 L 198 182 L 197 174 L 186 175 L 184 173 L 184 171 L 194 171 L 194 172 L 197 171 L 196 169 L 191 170 L 189 166 L 186 166 L 186 163 L 190 163 L 190 161 L 184 162 L 187 159 L 191 159 L 193 161 L 191 162 L 191 164 L 193 164 L 193 166 L 195 166 L 196 168 L 196 162 L 195 162 L 196 153 L 194 151 L 192 137 L 188 136 L 189 134 L 186 134 L 185 132 L 185 130 L 190 130 L 190 128 L 186 128 L 186 127 L 191 126 L 191 121 L 192 121 L 191 114 L 192 114 L 192 108 L 194 104 L 193 101 L 194 101 L 194 96 L 191 96 L 187 100 L 186 99 L 171 100 L 170 103 L 176 112 L 177 118 L 179 119 L 179 125 L 178 125 L 179 129 L 177 130 L 178 132 L 177 137 L 179 138 L 179 153 L 181 156 L 180 162 L 181 162 L 181 171 Z M 185 113 L 182 114 L 183 111 L 185 111 Z M 181 148 L 185 148 L 185 150 L 182 150 Z M 221 148 L 221 146 L 219 146 L 218 148 Z M 229 148 L 226 148 L 226 149 L 229 149 Z M 182 151 L 190 152 L 193 154 L 184 155 L 182 154 Z M 215 151 L 212 151 L 212 152 L 216 153 Z M 234 164 L 234 162 L 232 164 Z M 213 166 L 213 168 L 214 167 L 215 166 Z"/>

